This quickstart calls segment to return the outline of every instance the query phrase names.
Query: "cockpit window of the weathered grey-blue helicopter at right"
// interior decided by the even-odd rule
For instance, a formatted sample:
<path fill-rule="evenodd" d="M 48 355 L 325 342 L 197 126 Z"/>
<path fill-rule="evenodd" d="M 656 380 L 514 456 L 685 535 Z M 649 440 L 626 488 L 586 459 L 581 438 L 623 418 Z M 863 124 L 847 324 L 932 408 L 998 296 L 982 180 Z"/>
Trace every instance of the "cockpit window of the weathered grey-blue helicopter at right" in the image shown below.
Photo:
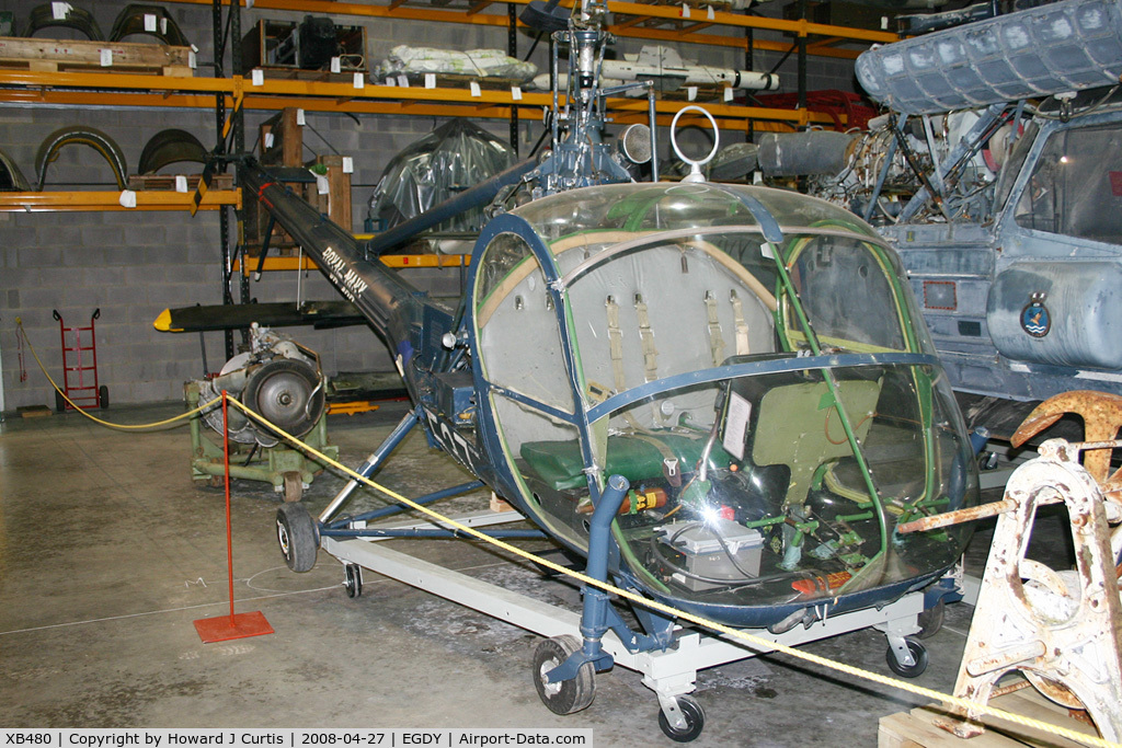
<path fill-rule="evenodd" d="M 1026 229 L 1122 243 L 1122 124 L 1051 135 L 1014 219 Z"/>

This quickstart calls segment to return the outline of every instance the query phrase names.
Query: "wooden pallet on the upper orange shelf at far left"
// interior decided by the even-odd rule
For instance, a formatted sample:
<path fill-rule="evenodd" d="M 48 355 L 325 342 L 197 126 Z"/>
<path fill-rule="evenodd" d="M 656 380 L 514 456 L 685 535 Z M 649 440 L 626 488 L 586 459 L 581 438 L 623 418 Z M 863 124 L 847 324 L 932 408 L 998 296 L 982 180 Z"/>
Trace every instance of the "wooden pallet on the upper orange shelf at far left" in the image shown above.
<path fill-rule="evenodd" d="M 45 73 L 142 73 L 191 77 L 194 75 L 192 54 L 190 47 L 163 44 L 0 38 L 0 67 Z"/>

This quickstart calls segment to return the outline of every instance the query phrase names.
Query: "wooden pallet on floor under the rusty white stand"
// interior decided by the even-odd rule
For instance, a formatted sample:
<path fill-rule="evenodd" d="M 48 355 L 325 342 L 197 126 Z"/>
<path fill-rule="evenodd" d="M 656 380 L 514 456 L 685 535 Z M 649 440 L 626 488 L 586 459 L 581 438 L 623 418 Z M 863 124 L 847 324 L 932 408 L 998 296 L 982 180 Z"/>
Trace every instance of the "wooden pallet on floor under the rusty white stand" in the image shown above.
<path fill-rule="evenodd" d="M 1085 735 L 1097 735 L 1083 720 L 1069 717 L 1068 710 L 1052 703 L 1034 689 L 1027 687 L 992 699 L 990 704 L 1014 714 L 1076 730 Z M 1083 744 L 1061 738 L 1042 730 L 1033 730 L 1003 722 L 992 717 L 983 718 L 986 731 L 975 738 L 964 740 L 936 726 L 936 720 L 946 720 L 946 712 L 938 705 L 918 707 L 911 712 L 900 712 L 882 717 L 877 732 L 877 748 L 1082 748 Z"/>

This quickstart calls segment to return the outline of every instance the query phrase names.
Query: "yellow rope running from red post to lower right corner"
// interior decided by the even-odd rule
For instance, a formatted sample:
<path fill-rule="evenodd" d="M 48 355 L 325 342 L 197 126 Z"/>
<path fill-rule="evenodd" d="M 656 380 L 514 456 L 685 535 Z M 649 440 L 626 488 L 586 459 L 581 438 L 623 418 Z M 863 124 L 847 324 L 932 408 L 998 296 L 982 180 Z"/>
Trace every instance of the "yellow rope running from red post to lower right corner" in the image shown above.
<path fill-rule="evenodd" d="M 934 701 L 940 701 L 940 702 L 942 702 L 945 704 L 948 704 L 950 707 L 957 707 L 957 708 L 963 709 L 963 710 L 973 710 L 973 711 L 976 711 L 976 712 L 981 712 L 983 714 L 988 714 L 991 717 L 994 717 L 994 718 L 997 718 L 997 719 L 1001 719 L 1001 720 L 1013 722 L 1014 724 L 1020 724 L 1022 727 L 1032 728 L 1032 729 L 1037 729 L 1037 730 L 1043 730 L 1046 732 L 1049 732 L 1049 733 L 1052 733 L 1052 735 L 1056 735 L 1056 736 L 1059 736 L 1059 737 L 1063 737 L 1063 738 L 1067 738 L 1069 740 L 1075 740 L 1077 742 L 1082 742 L 1082 744 L 1085 744 L 1085 745 L 1088 745 L 1088 746 L 1095 746 L 1096 748 L 1122 748 L 1122 744 L 1112 742 L 1110 740 L 1104 740 L 1103 738 L 1100 738 L 1100 737 L 1096 737 L 1096 736 L 1084 735 L 1084 733 L 1077 732 L 1075 730 L 1069 730 L 1069 729 L 1064 728 L 1064 727 L 1059 727 L 1059 726 L 1056 726 L 1056 724 L 1050 724 L 1048 722 L 1042 722 L 1040 720 L 1036 720 L 1036 719 L 1032 719 L 1032 718 L 1029 718 L 1029 717 L 1023 717 L 1021 714 L 1013 714 L 1012 712 L 1006 712 L 1006 711 L 1001 710 L 1001 709 L 994 709 L 993 707 L 990 707 L 988 704 L 982 704 L 982 703 L 978 703 L 978 702 L 975 702 L 975 701 L 971 701 L 969 699 L 963 699 L 960 696 L 951 696 L 951 695 L 941 693 L 939 691 L 935 691 L 934 689 L 926 689 L 923 686 L 914 685 L 912 683 L 905 683 L 904 681 L 900 681 L 900 680 L 896 680 L 896 678 L 893 678 L 893 677 L 889 677 L 886 675 L 880 675 L 879 673 L 873 673 L 871 671 L 865 671 L 865 669 L 862 669 L 859 667 L 854 667 L 853 665 L 846 665 L 845 663 L 838 663 L 838 662 L 835 662 L 833 659 L 828 659 L 826 657 L 820 657 L 818 655 L 813 655 L 813 654 L 810 654 L 808 652 L 803 652 L 801 649 L 797 649 L 794 647 L 790 647 L 790 646 L 784 645 L 784 644 L 779 644 L 778 641 L 772 641 L 770 639 L 764 639 L 762 637 L 754 636 L 754 635 L 748 634 L 748 632 L 746 632 L 744 630 L 741 630 L 741 629 L 735 629 L 735 628 L 725 626 L 723 624 L 718 624 L 716 621 L 710 621 L 710 620 L 708 620 L 706 618 L 702 618 L 700 616 L 695 616 L 693 613 L 689 613 L 689 612 L 686 612 L 686 611 L 682 611 L 682 610 L 677 610 L 677 609 L 674 609 L 674 608 L 672 608 L 670 606 L 666 606 L 664 603 L 657 602 L 656 600 L 651 600 L 650 598 L 644 598 L 644 597 L 642 597 L 640 594 L 636 594 L 634 592 L 629 592 L 627 590 L 622 590 L 622 589 L 619 589 L 619 588 L 617 588 L 617 587 L 615 587 L 615 585 L 613 585 L 613 584 L 610 584 L 608 582 L 600 582 L 598 580 L 595 580 L 595 579 L 592 579 L 590 576 L 587 576 L 587 575 L 582 574 L 582 573 L 573 571 L 571 569 L 567 569 L 565 566 L 557 564 L 557 563 L 554 563 L 552 561 L 549 561 L 546 558 L 542 558 L 540 556 L 535 556 L 534 554 L 532 554 L 532 553 L 530 553 L 527 551 L 523 551 L 522 548 L 518 548 L 516 546 L 513 546 L 509 543 L 505 543 L 505 542 L 503 542 L 503 541 L 500 541 L 498 538 L 490 537 L 490 536 L 486 535 L 485 533 L 482 533 L 482 532 L 480 532 L 480 530 L 478 530 L 478 529 L 476 529 L 473 527 L 469 527 L 467 525 L 458 523 L 454 519 L 445 517 L 445 516 L 441 515 L 440 512 L 434 511 L 433 509 L 430 509 L 429 507 L 425 507 L 423 505 L 416 504 L 415 501 L 413 501 L 413 500 L 411 500 L 411 499 L 402 496 L 401 493 L 397 493 L 396 491 L 393 491 L 393 490 L 390 490 L 390 489 L 388 489 L 388 488 L 386 488 L 384 486 L 380 486 L 379 483 L 374 482 L 369 478 L 364 478 L 362 475 L 360 475 L 357 472 L 355 472 L 353 470 L 347 468 L 346 465 L 343 465 L 342 463 L 338 462 L 337 460 L 332 460 L 331 458 L 329 458 L 328 455 L 323 454 L 319 450 L 316 450 L 316 449 L 314 449 L 312 446 L 309 446 L 307 444 L 304 444 L 303 442 L 301 442 L 295 436 L 286 433 L 284 430 L 278 428 L 277 426 L 274 426 L 268 421 L 266 421 L 261 416 L 257 415 L 256 413 L 254 413 L 252 410 L 250 410 L 247 406 L 242 405 L 238 400 L 236 400 L 233 398 L 230 398 L 230 403 L 232 403 L 234 405 L 234 407 L 237 407 L 240 410 L 242 410 L 249 418 L 252 418 L 254 421 L 257 421 L 258 423 L 260 423 L 260 424 L 265 425 L 266 427 L 273 430 L 274 432 L 276 432 L 277 434 L 282 435 L 285 440 L 287 440 L 288 442 L 291 442 L 292 444 L 294 444 L 294 445 L 298 446 L 300 449 L 305 450 L 306 452 L 309 452 L 312 455 L 314 455 L 318 460 L 320 460 L 324 464 L 329 464 L 332 468 L 334 468 L 334 469 L 341 471 L 342 473 L 349 475 L 350 478 L 352 478 L 352 479 L 355 479 L 355 480 L 357 480 L 357 481 L 359 481 L 359 482 L 361 482 L 361 483 L 364 483 L 366 486 L 369 486 L 370 488 L 373 488 L 373 489 L 375 489 L 377 491 L 380 491 L 381 493 L 384 493 L 385 496 L 389 497 L 394 501 L 399 502 L 399 504 L 404 504 L 404 505 L 406 505 L 406 506 L 408 506 L 408 507 L 411 507 L 413 509 L 416 509 L 417 511 L 424 512 L 425 515 L 429 515 L 433 519 L 436 519 L 436 520 L 442 521 L 442 523 L 447 523 L 450 527 L 453 527 L 457 530 L 460 530 L 462 533 L 471 535 L 472 537 L 476 537 L 477 539 L 484 541 L 485 543 L 490 543 L 491 545 L 494 545 L 494 546 L 496 546 L 498 548 L 502 548 L 504 551 L 513 553 L 513 554 L 515 554 L 517 556 L 521 556 L 521 557 L 523 557 L 523 558 L 525 558 L 527 561 L 531 561 L 531 562 L 533 562 L 535 564 L 540 564 L 542 566 L 545 566 L 546 569 L 550 569 L 551 571 L 554 571 L 554 572 L 557 572 L 559 574 L 565 574 L 568 576 L 571 576 L 572 579 L 574 579 L 574 580 L 577 580 L 579 582 L 582 582 L 585 584 L 590 584 L 591 587 L 599 588 L 600 590 L 604 590 L 605 592 L 608 592 L 610 594 L 618 595 L 618 597 L 620 597 L 620 598 L 623 598 L 625 600 L 631 600 L 632 602 L 635 602 L 635 603 L 637 603 L 640 606 L 650 608 L 652 610 L 657 610 L 659 612 L 664 613 L 666 616 L 671 616 L 673 618 L 678 618 L 678 619 L 681 619 L 681 620 L 687 620 L 687 621 L 690 621 L 691 624 L 696 624 L 696 625 L 705 627 L 707 629 L 711 629 L 714 631 L 718 631 L 718 632 L 724 634 L 724 635 L 726 635 L 728 637 L 732 637 L 732 638 L 735 638 L 735 639 L 739 639 L 741 641 L 744 641 L 745 644 L 751 645 L 751 646 L 755 646 L 755 647 L 763 648 L 763 649 L 766 649 L 766 650 L 782 652 L 785 655 L 790 655 L 790 656 L 797 657 L 799 659 L 803 659 L 803 661 L 807 661 L 807 662 L 810 662 L 810 663 L 815 663 L 816 665 L 821 665 L 822 667 L 828 667 L 830 669 L 835 669 L 835 671 L 838 671 L 840 673 L 845 673 L 846 675 L 852 675 L 852 676 L 855 676 L 855 677 L 864 678 L 866 681 L 872 681 L 874 683 L 879 683 L 881 685 L 886 685 L 886 686 L 891 686 L 891 687 L 894 687 L 894 689 L 900 689 L 901 691 L 907 691 L 909 693 L 913 693 L 916 695 L 923 696 L 926 699 L 931 699 Z"/>

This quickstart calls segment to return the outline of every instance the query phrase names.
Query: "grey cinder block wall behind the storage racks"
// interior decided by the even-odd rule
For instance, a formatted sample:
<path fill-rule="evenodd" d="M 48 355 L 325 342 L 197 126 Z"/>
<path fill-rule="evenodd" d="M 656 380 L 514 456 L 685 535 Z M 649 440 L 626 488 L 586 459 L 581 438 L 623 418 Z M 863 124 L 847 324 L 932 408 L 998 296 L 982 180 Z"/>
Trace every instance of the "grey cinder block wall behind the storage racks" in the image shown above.
<path fill-rule="evenodd" d="M 15 12 L 22 30 L 30 9 L 37 4 L 39 0 L 10 0 L 4 8 Z M 99 0 L 74 4 L 91 10 L 108 34 L 117 13 L 127 3 Z M 767 15 L 779 15 L 780 4 L 769 3 L 762 8 Z M 196 74 L 210 75 L 205 67 L 213 58 L 210 8 L 178 3 L 166 7 L 200 49 L 201 66 Z M 248 30 L 258 18 L 298 20 L 302 17 L 303 13 L 254 9 L 242 11 L 242 27 Z M 362 21 L 341 17 L 338 22 Z M 397 44 L 458 49 L 506 47 L 506 30 L 502 27 L 392 20 L 369 20 L 365 26 L 371 62 L 385 57 Z M 530 44 L 528 36 L 519 39 L 522 50 L 528 49 Z M 642 44 L 624 39 L 619 48 L 635 52 Z M 679 46 L 682 56 L 690 61 L 743 66 L 743 53 L 736 50 Z M 534 57 L 543 68 L 546 49 L 548 45 L 539 45 Z M 757 53 L 755 68 L 770 70 L 778 58 L 778 55 Z M 794 84 L 792 64 L 789 62 L 781 70 L 781 73 L 787 68 L 791 71 L 788 90 L 793 90 Z M 850 76 L 852 65 L 837 61 L 816 62 L 810 87 L 839 87 Z M 247 113 L 247 145 L 256 140 L 258 123 L 270 114 Z M 389 116 L 362 116 L 356 122 L 349 117 L 315 112 L 307 112 L 307 121 L 335 150 L 355 157 L 355 230 L 361 230 L 373 187 L 393 155 L 443 123 L 433 118 Z M 503 120 L 475 121 L 500 137 L 508 135 L 508 126 Z M 215 139 L 214 113 L 210 110 L 0 105 L 0 148 L 15 159 L 28 179 L 34 179 L 39 144 L 55 129 L 72 124 L 92 126 L 108 133 L 125 151 L 130 169 L 136 167 L 148 139 L 165 128 L 190 130 L 206 146 Z M 523 122 L 523 153 L 528 150 L 525 144 L 536 140 L 540 132 L 540 121 Z M 309 158 L 316 153 L 331 153 L 328 145 L 306 130 L 304 142 Z M 114 187 L 100 156 L 90 148 L 68 146 L 50 166 L 47 188 Z M 58 310 L 67 325 L 85 325 L 93 311 L 101 310 L 96 322 L 98 364 L 101 384 L 109 387 L 114 404 L 180 399 L 183 382 L 202 375 L 200 335 L 158 333 L 151 323 L 169 306 L 221 302 L 217 213 L 200 212 L 195 218 L 180 212 L 0 213 L 0 407 L 4 410 L 54 404 L 46 378 L 30 351 L 20 353 L 16 336 L 16 318 L 20 317 L 44 364 L 58 378 L 62 355 L 53 310 Z M 417 285 L 439 293 L 458 288 L 457 269 L 413 270 L 411 274 L 410 278 Z M 304 298 L 337 297 L 319 274 L 311 274 L 301 283 Z M 251 295 L 260 302 L 294 301 L 296 293 L 294 274 L 266 274 L 251 287 Z M 291 329 L 288 332 L 321 353 L 329 373 L 393 368 L 385 345 L 366 327 Z M 206 333 L 204 342 L 206 362 L 211 370 L 217 370 L 224 361 L 222 334 Z"/>

